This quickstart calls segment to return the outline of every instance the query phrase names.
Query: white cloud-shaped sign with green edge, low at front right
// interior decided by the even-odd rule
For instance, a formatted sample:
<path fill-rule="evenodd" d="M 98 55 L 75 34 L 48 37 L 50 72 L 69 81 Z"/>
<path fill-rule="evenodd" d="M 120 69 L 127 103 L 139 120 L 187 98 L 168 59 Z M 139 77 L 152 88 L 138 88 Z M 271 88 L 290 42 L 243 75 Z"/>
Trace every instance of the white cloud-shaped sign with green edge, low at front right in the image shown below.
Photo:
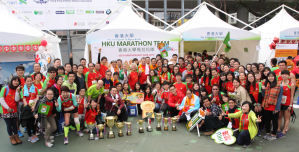
<path fill-rule="evenodd" d="M 229 128 L 220 128 L 214 134 L 211 135 L 215 143 L 225 145 L 232 145 L 236 142 L 236 137 L 233 136 L 233 130 Z"/>

